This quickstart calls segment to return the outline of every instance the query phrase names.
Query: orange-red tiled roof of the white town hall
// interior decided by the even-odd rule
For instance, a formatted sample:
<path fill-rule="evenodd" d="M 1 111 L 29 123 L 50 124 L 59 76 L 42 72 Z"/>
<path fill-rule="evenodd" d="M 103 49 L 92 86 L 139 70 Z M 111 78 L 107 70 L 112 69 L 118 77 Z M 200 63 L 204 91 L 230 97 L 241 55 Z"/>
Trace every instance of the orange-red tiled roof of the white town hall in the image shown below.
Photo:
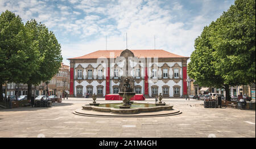
<path fill-rule="evenodd" d="M 97 50 L 96 52 L 92 52 L 86 54 L 81 57 L 74 57 L 68 59 L 90 59 L 90 58 L 99 58 L 106 57 L 110 58 L 110 52 L 114 53 L 114 57 L 119 57 L 123 50 Z M 184 56 L 179 56 L 174 53 L 167 52 L 165 50 L 130 50 L 134 53 L 135 57 L 158 57 L 158 58 L 189 58 Z"/>

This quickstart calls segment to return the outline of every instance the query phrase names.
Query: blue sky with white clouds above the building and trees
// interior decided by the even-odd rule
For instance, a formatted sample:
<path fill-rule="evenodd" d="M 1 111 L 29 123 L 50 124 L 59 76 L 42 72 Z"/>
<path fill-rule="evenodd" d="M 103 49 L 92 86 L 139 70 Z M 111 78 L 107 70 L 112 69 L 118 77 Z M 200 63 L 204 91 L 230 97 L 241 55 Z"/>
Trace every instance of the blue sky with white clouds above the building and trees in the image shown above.
<path fill-rule="evenodd" d="M 63 62 L 96 50 L 156 49 L 190 56 L 205 25 L 234 0 L 0 0 L 23 22 L 36 19 L 53 31 Z M 154 44 L 154 36 L 156 44 Z"/>

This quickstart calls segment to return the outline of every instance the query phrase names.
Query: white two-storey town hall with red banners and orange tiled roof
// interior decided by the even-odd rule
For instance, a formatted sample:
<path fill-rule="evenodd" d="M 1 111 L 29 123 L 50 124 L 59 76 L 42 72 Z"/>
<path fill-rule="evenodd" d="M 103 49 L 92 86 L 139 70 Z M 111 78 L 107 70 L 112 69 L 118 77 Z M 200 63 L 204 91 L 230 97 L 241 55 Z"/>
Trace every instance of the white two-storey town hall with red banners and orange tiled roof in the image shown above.
<path fill-rule="evenodd" d="M 130 79 L 137 94 L 155 97 L 187 95 L 187 60 L 165 50 L 98 50 L 70 61 L 69 96 L 98 97 L 122 91 Z"/>

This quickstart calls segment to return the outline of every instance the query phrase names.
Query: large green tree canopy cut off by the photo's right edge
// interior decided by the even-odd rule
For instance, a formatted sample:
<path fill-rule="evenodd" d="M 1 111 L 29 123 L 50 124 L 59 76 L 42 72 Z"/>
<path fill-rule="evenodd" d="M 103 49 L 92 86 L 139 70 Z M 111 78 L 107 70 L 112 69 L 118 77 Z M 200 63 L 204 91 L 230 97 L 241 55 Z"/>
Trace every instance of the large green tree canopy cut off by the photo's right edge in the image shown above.
<path fill-rule="evenodd" d="M 235 1 L 210 33 L 216 74 L 226 84 L 255 83 L 255 1 Z"/>

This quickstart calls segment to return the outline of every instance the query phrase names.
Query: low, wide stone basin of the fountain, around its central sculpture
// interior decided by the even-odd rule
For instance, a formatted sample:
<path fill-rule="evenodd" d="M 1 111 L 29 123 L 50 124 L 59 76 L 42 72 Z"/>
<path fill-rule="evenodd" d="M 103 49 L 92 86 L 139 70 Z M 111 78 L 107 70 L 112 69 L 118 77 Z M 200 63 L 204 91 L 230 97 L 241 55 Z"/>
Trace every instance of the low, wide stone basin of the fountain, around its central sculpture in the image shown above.
<path fill-rule="evenodd" d="M 159 105 L 155 104 L 146 104 L 146 103 L 133 103 L 129 109 L 121 109 L 119 106 L 122 103 L 113 103 L 113 104 L 100 104 L 98 106 L 93 105 L 84 105 L 82 106 L 83 110 L 95 110 L 98 112 L 110 112 L 117 114 L 136 114 L 141 112 L 156 112 L 160 110 L 172 110 L 172 105 Z"/>

